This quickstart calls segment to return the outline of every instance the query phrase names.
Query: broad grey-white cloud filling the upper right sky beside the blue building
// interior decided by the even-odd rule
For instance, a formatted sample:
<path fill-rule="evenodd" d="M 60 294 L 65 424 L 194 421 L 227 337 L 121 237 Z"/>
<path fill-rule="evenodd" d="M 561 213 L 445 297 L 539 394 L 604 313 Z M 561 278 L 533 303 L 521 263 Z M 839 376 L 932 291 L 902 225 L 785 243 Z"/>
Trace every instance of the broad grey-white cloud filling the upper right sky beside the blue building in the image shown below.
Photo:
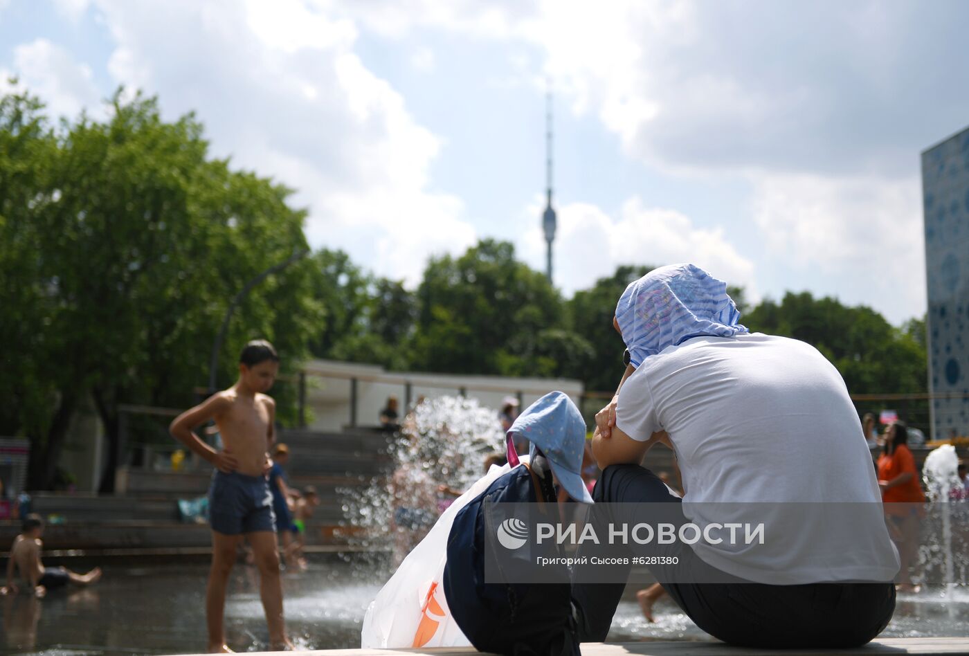
<path fill-rule="evenodd" d="M 923 311 L 917 153 L 965 124 L 966 3 L 536 0 L 480 24 L 474 3 L 408 4 L 427 11 L 360 20 L 537 47 L 557 93 L 629 157 L 749 180 L 785 284 L 813 268 L 893 319 Z M 883 253 L 876 275 L 860 265 Z"/>

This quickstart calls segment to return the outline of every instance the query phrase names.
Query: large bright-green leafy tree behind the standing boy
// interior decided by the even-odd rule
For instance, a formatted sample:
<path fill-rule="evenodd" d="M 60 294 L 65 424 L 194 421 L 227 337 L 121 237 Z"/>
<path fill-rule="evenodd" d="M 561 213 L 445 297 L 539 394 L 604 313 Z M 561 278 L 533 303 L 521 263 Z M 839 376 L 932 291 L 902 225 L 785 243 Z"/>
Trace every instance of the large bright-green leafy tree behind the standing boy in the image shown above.
<path fill-rule="evenodd" d="M 8 103 L 15 106 L 16 99 Z M 14 356 L 25 368 L 57 363 L 43 372 L 55 390 L 47 398 L 48 407 L 56 402 L 47 411 L 48 426 L 65 414 L 69 421 L 81 398 L 94 400 L 109 441 L 104 491 L 119 464 L 119 405 L 191 403 L 192 390 L 206 380 L 211 344 L 231 298 L 247 280 L 305 247 L 303 212 L 286 203 L 291 191 L 208 159 L 203 127 L 193 116 L 165 122 L 154 99 L 124 103 L 120 92 L 110 109 L 105 122 L 82 115 L 48 133 L 54 146 L 38 157 L 44 184 L 30 192 L 24 231 L 40 255 L 31 275 L 49 311 L 38 321 L 17 309 L 43 343 Z M 4 132 L 0 139 L 15 131 Z M 5 243 L 4 259 L 9 250 Z M 243 300 L 221 354 L 221 383 L 234 380 L 237 353 L 254 336 L 276 344 L 284 371 L 305 355 L 308 327 L 320 322 L 311 273 L 293 266 Z M 286 421 L 295 412 L 293 391 L 284 385 L 274 393 Z M 37 408 L 21 414 L 46 414 L 44 404 Z M 23 424 L 21 432 L 32 441 L 31 485 L 47 487 L 64 431 L 45 434 Z"/>

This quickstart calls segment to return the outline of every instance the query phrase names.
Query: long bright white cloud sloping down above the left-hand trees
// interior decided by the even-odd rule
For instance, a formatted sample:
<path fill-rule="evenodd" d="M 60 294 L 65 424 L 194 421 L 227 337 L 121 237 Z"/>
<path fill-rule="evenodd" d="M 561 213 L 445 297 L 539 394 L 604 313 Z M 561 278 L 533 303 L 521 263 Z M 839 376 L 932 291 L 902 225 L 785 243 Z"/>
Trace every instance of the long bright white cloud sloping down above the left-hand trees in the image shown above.
<path fill-rule="evenodd" d="M 474 243 L 460 200 L 430 187 L 438 138 L 360 61 L 352 21 L 294 1 L 99 4 L 111 76 L 196 110 L 217 154 L 297 188 L 314 246 L 416 283 L 428 255 Z"/>

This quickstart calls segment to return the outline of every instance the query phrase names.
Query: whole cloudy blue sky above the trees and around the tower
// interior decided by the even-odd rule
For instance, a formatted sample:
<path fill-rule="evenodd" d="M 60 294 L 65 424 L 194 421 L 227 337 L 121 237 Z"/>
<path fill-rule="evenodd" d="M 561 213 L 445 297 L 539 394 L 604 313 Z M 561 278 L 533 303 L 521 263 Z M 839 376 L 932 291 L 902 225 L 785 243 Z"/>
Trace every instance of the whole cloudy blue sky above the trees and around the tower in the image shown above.
<path fill-rule="evenodd" d="M 545 269 L 546 91 L 569 297 L 692 262 L 925 312 L 920 153 L 969 125 L 969 3 L 0 0 L 0 85 L 123 85 L 296 188 L 314 247 L 421 280 L 483 237 Z"/>

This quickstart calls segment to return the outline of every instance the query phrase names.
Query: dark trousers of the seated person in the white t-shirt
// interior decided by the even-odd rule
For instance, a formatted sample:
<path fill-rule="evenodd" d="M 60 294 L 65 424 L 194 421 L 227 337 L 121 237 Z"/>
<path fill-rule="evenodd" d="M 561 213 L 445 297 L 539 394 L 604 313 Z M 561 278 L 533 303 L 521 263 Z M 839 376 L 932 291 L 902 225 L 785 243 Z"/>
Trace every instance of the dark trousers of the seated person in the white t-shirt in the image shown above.
<path fill-rule="evenodd" d="M 666 504 L 680 501 L 655 474 L 637 465 L 607 467 L 596 484 L 593 498 L 597 503 L 625 503 L 629 513 L 640 515 L 642 507 L 638 504 L 665 504 L 662 507 L 665 516 L 670 515 L 671 509 L 679 508 Z M 621 506 L 610 508 L 615 509 L 615 514 L 626 512 Z M 681 511 L 679 517 L 680 521 L 686 521 Z M 624 518 L 612 516 L 610 520 L 621 522 Z M 586 549 L 582 545 L 578 555 L 591 557 L 597 548 Z M 632 553 L 629 547 L 614 548 Z M 649 567 L 650 573 L 697 626 L 730 644 L 767 648 L 860 646 L 885 629 L 895 609 L 895 588 L 891 581 L 768 585 L 717 572 L 719 576 L 713 579 L 732 578 L 733 582 L 690 582 L 690 578 L 711 579 L 703 577 L 703 568 L 709 566 L 692 548 L 675 543 L 656 549 L 654 555 L 675 555 L 679 562 L 675 566 Z M 637 551 L 637 555 L 642 553 Z M 625 581 L 632 565 L 610 567 L 617 568 L 610 572 L 610 580 Z M 597 575 L 595 568 L 590 568 L 578 570 L 573 582 L 581 641 L 606 640 L 612 615 L 625 588 L 624 582 L 601 583 L 592 577 L 603 578 L 601 571 Z M 678 582 L 683 579 L 687 582 Z"/>

